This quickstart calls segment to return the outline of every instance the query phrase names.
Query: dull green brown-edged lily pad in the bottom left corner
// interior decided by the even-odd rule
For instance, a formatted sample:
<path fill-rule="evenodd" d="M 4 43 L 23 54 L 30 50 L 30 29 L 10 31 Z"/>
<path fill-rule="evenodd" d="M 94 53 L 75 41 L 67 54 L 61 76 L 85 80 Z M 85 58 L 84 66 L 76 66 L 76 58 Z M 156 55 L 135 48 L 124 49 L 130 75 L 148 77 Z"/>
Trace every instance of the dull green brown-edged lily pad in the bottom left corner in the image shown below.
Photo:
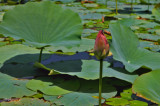
<path fill-rule="evenodd" d="M 22 98 L 18 101 L 2 102 L 2 106 L 51 106 L 51 103 L 37 98 Z"/>

